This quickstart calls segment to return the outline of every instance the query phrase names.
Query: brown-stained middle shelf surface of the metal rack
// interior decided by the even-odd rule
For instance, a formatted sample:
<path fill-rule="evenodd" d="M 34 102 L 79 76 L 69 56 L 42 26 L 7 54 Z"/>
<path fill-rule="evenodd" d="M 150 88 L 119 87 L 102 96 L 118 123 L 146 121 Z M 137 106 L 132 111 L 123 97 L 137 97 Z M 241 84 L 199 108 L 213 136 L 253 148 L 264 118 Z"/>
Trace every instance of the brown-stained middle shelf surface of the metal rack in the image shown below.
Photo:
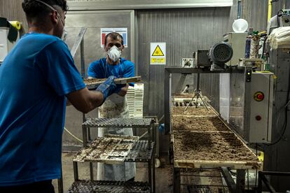
<path fill-rule="evenodd" d="M 106 135 L 88 143 L 74 157 L 74 162 L 149 162 L 153 155 L 154 143 L 149 149 L 148 141 L 138 141 L 138 136 Z"/>

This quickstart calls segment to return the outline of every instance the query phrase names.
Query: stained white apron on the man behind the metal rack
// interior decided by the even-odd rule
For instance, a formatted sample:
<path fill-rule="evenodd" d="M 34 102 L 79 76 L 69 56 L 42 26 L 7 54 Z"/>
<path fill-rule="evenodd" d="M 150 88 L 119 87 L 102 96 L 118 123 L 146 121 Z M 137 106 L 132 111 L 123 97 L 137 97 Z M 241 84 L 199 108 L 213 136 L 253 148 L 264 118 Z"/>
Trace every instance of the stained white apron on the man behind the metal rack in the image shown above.
<path fill-rule="evenodd" d="M 102 118 L 118 118 L 129 117 L 129 110 L 125 96 L 111 94 L 102 106 L 99 107 L 99 117 Z M 132 128 L 102 128 L 98 130 L 98 136 L 105 134 L 118 134 L 125 136 L 133 136 Z M 136 173 L 135 163 L 123 164 L 103 164 L 97 163 L 97 180 L 116 180 L 126 181 L 134 178 Z"/>

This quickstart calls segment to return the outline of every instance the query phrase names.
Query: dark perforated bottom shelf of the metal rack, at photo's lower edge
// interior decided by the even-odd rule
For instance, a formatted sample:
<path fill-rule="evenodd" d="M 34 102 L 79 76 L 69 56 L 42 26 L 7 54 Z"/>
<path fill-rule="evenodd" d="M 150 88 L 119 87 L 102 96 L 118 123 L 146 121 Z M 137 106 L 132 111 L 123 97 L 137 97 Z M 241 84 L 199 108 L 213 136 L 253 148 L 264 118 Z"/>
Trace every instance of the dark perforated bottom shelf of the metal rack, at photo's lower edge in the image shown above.
<path fill-rule="evenodd" d="M 68 190 L 68 193 L 88 192 L 150 192 L 149 183 L 126 182 L 126 181 L 75 181 Z"/>

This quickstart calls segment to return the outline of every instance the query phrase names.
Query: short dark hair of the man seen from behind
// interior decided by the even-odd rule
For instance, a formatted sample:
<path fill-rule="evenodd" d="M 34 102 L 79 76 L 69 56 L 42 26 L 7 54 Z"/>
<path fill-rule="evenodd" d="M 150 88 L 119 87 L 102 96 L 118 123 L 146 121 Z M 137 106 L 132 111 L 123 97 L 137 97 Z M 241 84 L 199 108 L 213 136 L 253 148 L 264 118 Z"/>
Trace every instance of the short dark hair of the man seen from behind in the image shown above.
<path fill-rule="evenodd" d="M 47 3 L 50 6 L 60 6 L 64 12 L 67 12 L 69 7 L 67 6 L 67 0 L 40 0 Z M 24 0 L 22 2 L 22 8 L 25 11 L 27 20 L 34 17 L 43 17 L 47 13 L 50 13 L 51 9 L 45 4 L 35 0 Z"/>

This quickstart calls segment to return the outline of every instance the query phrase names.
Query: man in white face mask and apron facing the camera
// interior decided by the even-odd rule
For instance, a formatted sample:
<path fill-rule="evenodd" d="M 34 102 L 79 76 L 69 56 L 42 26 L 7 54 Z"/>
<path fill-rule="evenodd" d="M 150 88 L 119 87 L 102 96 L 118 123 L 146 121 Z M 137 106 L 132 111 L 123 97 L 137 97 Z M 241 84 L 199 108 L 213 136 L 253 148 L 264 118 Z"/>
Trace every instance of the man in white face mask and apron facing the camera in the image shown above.
<path fill-rule="evenodd" d="M 108 78 L 116 76 L 117 78 L 129 78 L 134 76 L 134 63 L 120 57 L 124 48 L 123 37 L 116 32 L 107 34 L 104 41 L 104 50 L 106 57 L 92 62 L 88 68 L 89 78 Z M 117 87 L 114 94 L 108 97 L 104 104 L 99 107 L 99 117 L 116 118 L 129 117 L 129 110 L 125 94 L 129 85 L 134 86 L 134 83 Z M 132 136 L 132 128 L 99 128 L 98 136 L 104 134 L 118 134 Z M 134 180 L 135 164 L 124 163 L 118 165 L 112 164 L 97 164 L 97 179 L 98 180 Z"/>

